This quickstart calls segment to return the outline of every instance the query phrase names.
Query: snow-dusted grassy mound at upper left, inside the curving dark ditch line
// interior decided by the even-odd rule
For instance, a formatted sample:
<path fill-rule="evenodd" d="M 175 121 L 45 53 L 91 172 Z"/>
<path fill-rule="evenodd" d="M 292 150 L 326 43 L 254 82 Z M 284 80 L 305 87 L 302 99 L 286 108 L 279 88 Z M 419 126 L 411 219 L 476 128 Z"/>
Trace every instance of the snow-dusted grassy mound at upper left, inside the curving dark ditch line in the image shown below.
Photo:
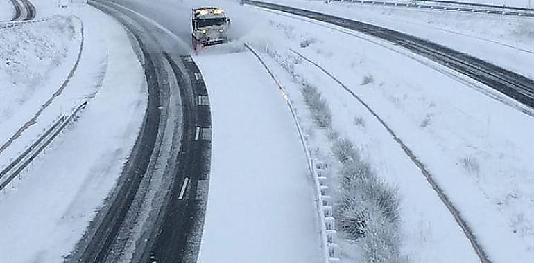
<path fill-rule="evenodd" d="M 44 102 L 57 89 L 45 84 L 54 69 L 71 62 L 69 51 L 78 49 L 74 23 L 72 17 L 58 17 L 0 29 L 0 125 L 32 98 L 42 96 Z"/>

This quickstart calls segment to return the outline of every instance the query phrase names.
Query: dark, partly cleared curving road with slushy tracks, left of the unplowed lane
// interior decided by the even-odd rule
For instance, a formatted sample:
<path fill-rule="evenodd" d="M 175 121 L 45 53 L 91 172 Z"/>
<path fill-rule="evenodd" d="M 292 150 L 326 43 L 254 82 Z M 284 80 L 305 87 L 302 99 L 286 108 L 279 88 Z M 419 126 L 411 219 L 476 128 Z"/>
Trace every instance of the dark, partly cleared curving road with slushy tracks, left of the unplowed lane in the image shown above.
<path fill-rule="evenodd" d="M 89 1 L 128 30 L 144 64 L 148 105 L 116 188 L 67 262 L 195 262 L 211 114 L 196 64 L 174 35 L 119 2 Z"/>

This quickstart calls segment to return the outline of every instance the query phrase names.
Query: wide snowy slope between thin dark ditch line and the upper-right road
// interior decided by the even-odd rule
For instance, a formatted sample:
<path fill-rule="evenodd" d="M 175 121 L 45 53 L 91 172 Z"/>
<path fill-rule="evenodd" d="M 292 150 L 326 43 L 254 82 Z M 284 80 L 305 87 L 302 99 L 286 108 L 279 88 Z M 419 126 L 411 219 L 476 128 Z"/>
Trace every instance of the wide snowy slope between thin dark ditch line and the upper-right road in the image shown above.
<path fill-rule="evenodd" d="M 487 247 L 490 257 L 496 258 L 497 262 L 505 258 L 520 261 L 532 257 L 528 252 L 531 251 L 528 244 L 532 244 L 530 240 L 533 237 L 532 222 L 528 218 L 532 217 L 526 216 L 525 213 L 531 211 L 528 200 L 532 197 L 526 191 L 526 185 L 533 184 L 533 167 L 528 158 L 521 157 L 529 156 L 533 152 L 532 144 L 522 143 L 533 141 L 532 134 L 523 132 L 522 128 L 524 125 L 530 127 L 530 130 L 534 127 L 534 122 L 528 116 L 486 98 L 464 84 L 445 78 L 425 66 L 409 62 L 409 59 L 402 58 L 402 55 L 390 54 L 379 46 L 365 44 L 350 37 L 336 37 L 336 34 L 319 28 L 310 30 L 308 26 L 295 20 L 286 23 L 275 22 L 272 26 L 278 28 L 279 35 L 293 42 L 293 48 L 299 48 L 302 39 L 316 39 L 314 44 L 300 48 L 300 51 L 334 72 L 398 131 L 417 157 L 436 175 L 438 183 L 442 184 L 474 228 L 481 244 Z M 288 45 L 283 42 L 280 44 L 273 38 L 270 37 L 270 41 L 275 41 L 279 48 Z M 347 55 L 346 48 L 343 47 L 347 43 L 360 48 Z M 395 66 L 400 64 L 404 65 L 402 69 Z M 411 66 L 406 66 L 408 64 Z M 306 68 L 300 64 L 295 65 L 295 68 L 299 67 Z M 411 78 L 412 74 L 409 72 L 413 71 L 419 72 L 421 78 Z M 312 83 L 319 81 L 316 76 L 318 72 L 309 74 L 309 78 L 314 81 Z M 366 75 L 372 75 L 374 82 L 361 86 Z M 431 87 L 428 83 L 432 83 Z M 320 89 L 322 92 L 335 93 L 334 98 L 337 98 L 336 101 L 341 103 L 341 106 L 347 107 L 349 103 L 356 103 L 354 100 L 347 100 L 347 93 L 339 87 L 333 88 L 331 84 L 316 85 L 324 87 Z M 339 98 L 343 100 L 340 101 Z M 480 105 L 485 105 L 485 111 L 478 110 Z M 343 111 L 347 109 L 342 107 L 333 110 L 334 119 L 336 115 L 343 115 Z M 356 116 L 347 117 L 342 132 L 354 129 L 352 123 Z M 365 123 L 369 123 L 369 120 Z M 359 140 L 363 138 L 365 137 Z M 376 138 L 369 143 L 371 145 L 364 147 L 370 147 L 369 151 L 372 152 L 373 145 L 377 143 Z M 448 157 L 444 158 L 445 156 Z M 370 158 L 378 159 L 375 164 L 384 165 L 384 153 Z M 503 180 L 506 180 L 510 187 L 503 186 Z M 522 188 L 524 190 L 520 190 L 520 195 L 523 198 L 513 198 L 513 202 L 499 201 L 501 197 Z M 463 198 L 467 194 L 470 198 Z M 481 214 L 491 216 L 480 217 Z M 519 216 L 518 224 L 513 224 L 517 215 L 522 216 Z M 482 221 L 485 223 L 482 224 Z M 499 238 L 495 234 L 497 232 Z M 508 244 L 515 244 L 513 248 L 501 248 L 503 239 L 506 239 Z"/>

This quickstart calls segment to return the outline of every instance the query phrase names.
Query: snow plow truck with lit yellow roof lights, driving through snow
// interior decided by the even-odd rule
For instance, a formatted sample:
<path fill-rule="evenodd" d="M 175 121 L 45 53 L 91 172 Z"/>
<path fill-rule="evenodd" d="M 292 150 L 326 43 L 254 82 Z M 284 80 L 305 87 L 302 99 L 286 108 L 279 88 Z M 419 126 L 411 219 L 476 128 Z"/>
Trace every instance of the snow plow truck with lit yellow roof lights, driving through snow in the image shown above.
<path fill-rule="evenodd" d="M 191 11 L 191 44 L 193 49 L 229 42 L 230 19 L 225 10 L 214 7 L 193 8 Z"/>

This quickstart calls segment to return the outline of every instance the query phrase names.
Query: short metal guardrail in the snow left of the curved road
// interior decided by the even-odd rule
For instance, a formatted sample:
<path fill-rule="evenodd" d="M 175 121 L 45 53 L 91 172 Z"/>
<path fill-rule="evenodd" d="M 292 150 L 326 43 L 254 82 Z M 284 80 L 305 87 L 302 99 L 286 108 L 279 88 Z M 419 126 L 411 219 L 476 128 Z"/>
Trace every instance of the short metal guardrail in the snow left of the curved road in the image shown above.
<path fill-rule="evenodd" d="M 62 114 L 44 134 L 22 152 L 14 161 L 0 171 L 0 190 L 6 187 L 12 179 L 19 175 L 37 156 L 48 146 L 64 127 L 69 124 L 78 112 L 87 106 L 87 101 L 78 105 L 69 116 Z"/>

